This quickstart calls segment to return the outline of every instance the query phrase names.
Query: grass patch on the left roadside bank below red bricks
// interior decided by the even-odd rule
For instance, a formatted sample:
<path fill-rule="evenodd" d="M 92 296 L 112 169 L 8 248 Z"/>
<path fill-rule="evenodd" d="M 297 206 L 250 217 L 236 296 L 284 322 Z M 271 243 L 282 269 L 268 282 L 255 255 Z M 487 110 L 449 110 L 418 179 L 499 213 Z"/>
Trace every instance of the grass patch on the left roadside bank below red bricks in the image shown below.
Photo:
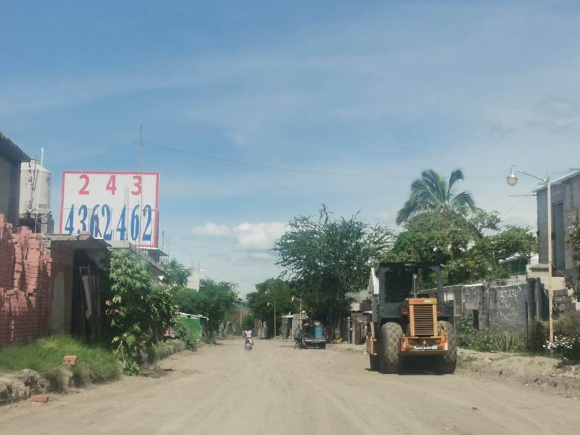
<path fill-rule="evenodd" d="M 84 345 L 69 336 L 51 336 L 25 345 L 2 347 L 0 370 L 18 371 L 29 368 L 46 375 L 51 381 L 57 381 L 62 376 L 64 355 L 78 357 L 77 365 L 71 367 L 77 385 L 113 380 L 120 375 L 118 360 L 112 352 Z"/>

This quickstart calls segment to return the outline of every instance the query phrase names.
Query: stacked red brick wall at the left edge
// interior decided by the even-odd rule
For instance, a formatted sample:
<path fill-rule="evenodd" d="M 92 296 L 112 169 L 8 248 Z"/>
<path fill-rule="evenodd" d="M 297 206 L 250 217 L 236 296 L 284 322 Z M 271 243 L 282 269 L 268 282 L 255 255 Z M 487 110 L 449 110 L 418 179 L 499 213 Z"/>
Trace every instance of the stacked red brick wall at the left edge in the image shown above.
<path fill-rule="evenodd" d="M 50 263 L 41 235 L 0 214 L 0 345 L 48 333 Z"/>

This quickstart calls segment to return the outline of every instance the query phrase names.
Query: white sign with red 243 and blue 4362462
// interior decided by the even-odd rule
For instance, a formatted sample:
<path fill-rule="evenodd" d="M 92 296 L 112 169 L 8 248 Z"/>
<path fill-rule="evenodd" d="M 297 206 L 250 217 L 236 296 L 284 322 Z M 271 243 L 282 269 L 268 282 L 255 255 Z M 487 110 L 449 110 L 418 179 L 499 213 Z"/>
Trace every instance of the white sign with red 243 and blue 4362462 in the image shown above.
<path fill-rule="evenodd" d="M 158 247 L 158 172 L 62 172 L 60 233 Z"/>

